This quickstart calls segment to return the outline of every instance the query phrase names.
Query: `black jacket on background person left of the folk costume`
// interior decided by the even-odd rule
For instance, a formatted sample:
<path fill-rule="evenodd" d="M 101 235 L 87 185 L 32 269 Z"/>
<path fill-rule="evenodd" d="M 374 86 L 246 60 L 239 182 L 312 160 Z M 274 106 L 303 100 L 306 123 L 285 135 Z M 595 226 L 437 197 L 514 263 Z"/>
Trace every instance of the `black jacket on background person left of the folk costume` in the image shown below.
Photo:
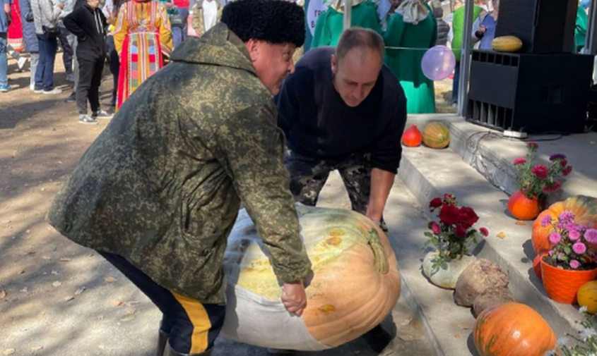
<path fill-rule="evenodd" d="M 64 26 L 78 39 L 77 59 L 97 61 L 107 53 L 106 17 L 99 8 L 77 1 L 73 12 L 64 18 Z"/>

